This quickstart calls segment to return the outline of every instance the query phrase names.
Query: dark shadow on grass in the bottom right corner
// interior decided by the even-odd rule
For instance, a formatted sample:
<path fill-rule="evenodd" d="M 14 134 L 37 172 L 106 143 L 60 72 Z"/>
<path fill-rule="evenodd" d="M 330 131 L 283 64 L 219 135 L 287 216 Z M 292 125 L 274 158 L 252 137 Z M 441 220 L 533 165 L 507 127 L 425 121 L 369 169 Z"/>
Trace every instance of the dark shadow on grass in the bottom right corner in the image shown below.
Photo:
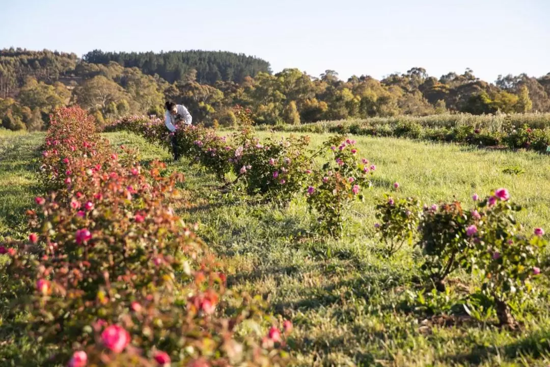
<path fill-rule="evenodd" d="M 472 348 L 470 353 L 447 355 L 445 360 L 451 363 L 479 365 L 489 357 L 496 355 L 510 360 L 522 356 L 530 356 L 534 359 L 550 358 L 550 331 L 532 333 L 530 336 L 500 348 L 478 344 Z"/>

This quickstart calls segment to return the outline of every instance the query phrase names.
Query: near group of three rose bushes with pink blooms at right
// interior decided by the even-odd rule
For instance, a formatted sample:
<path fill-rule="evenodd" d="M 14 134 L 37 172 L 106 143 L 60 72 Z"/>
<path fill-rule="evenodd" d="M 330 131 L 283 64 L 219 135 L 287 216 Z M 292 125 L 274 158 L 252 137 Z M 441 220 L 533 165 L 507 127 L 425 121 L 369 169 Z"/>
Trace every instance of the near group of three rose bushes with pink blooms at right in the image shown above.
<path fill-rule="evenodd" d="M 524 234 L 514 217 L 521 207 L 511 202 L 507 189 L 472 199 L 474 205 L 464 209 L 459 201 L 421 206 L 415 198 L 388 195 L 376 207 L 376 231 L 389 254 L 405 243 L 419 247 L 421 271 L 439 291 L 445 290 L 445 279 L 452 273 L 474 273 L 481 293 L 493 300 L 500 324 L 513 326 L 510 303 L 529 297 L 541 273 L 547 247 L 544 230 Z"/>

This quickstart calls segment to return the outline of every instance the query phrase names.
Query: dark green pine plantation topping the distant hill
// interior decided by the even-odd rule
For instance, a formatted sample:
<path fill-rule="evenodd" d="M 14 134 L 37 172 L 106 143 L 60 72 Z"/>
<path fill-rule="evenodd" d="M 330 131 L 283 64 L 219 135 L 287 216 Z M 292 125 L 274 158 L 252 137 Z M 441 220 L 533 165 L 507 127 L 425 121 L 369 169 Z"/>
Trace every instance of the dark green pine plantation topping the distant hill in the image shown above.
<path fill-rule="evenodd" d="M 169 83 L 196 80 L 201 84 L 216 81 L 242 83 L 246 76 L 259 72 L 271 74 L 270 63 L 260 58 L 222 51 L 103 52 L 84 55 L 88 63 L 117 62 L 125 68 L 136 67 L 145 74 L 158 74 Z"/>

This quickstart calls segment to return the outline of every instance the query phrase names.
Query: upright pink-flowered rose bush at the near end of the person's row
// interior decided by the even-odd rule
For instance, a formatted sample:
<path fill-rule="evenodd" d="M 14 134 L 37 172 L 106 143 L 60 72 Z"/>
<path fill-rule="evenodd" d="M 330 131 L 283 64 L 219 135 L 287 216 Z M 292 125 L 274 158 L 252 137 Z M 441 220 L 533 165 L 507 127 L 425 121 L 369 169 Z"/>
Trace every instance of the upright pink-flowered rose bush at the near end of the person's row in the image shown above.
<path fill-rule="evenodd" d="M 359 158 L 355 141 L 339 136 L 323 144 L 327 163 L 317 169 L 312 185 L 307 188 L 310 210 L 320 215 L 320 231 L 338 237 L 342 234 L 344 210 L 353 200 L 363 199 L 369 180 L 376 166 L 366 158 Z"/>

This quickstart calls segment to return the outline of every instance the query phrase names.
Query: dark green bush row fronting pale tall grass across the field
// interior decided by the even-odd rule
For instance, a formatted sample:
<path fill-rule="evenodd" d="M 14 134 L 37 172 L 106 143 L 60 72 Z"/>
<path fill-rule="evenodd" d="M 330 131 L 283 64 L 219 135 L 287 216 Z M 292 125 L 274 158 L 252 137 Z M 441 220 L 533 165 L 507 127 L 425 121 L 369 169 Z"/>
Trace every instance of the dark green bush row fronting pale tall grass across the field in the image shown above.
<path fill-rule="evenodd" d="M 527 149 L 540 152 L 546 152 L 548 146 L 550 146 L 550 128 L 533 128 L 529 125 L 509 127 L 500 131 L 468 124 L 454 127 L 425 127 L 420 123 L 409 120 L 370 125 L 367 120 L 365 123 L 277 125 L 270 127 L 270 129 L 286 132 L 392 136 L 394 138 L 421 139 L 480 146 L 504 145 L 510 149 Z"/>

